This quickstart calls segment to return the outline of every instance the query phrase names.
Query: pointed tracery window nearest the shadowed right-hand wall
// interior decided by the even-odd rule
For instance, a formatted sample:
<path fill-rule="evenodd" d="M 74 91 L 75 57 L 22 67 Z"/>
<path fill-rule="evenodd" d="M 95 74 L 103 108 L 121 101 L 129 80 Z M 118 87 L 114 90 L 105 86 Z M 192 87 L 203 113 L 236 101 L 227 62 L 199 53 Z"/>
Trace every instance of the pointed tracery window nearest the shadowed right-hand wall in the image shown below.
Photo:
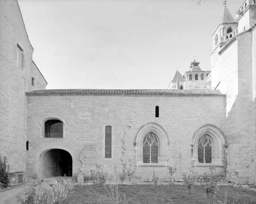
<path fill-rule="evenodd" d="M 212 142 L 208 135 L 203 135 L 198 141 L 197 157 L 199 163 L 212 163 Z"/>

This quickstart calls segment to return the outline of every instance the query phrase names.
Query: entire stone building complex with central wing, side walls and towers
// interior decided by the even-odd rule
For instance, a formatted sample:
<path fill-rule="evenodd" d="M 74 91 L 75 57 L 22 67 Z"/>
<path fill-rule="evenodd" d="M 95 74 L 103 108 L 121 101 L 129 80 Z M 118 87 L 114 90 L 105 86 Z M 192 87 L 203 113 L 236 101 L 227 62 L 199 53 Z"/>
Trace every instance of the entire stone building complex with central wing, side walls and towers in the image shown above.
<path fill-rule="evenodd" d="M 213 27 L 210 82 L 194 61 L 184 77 L 176 73 L 177 88 L 47 90 L 18 1 L 1 0 L 0 153 L 13 182 L 90 175 L 96 163 L 111 175 L 131 159 L 136 180 L 153 171 L 164 180 L 177 164 L 179 181 L 183 172 L 216 167 L 228 181 L 255 183 L 255 23 L 254 1 L 242 4 L 236 20 L 224 3 Z M 189 75 L 206 85 L 195 89 Z"/>

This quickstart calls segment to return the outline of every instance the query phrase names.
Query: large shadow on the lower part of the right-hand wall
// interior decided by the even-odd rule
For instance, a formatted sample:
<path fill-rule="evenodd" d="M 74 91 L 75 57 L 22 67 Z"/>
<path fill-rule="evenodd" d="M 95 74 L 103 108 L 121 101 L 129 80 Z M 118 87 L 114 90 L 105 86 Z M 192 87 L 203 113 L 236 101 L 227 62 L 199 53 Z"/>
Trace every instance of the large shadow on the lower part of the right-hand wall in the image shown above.
<path fill-rule="evenodd" d="M 255 100 L 253 103 L 244 102 L 243 96 L 238 94 L 226 116 L 226 180 L 238 184 L 254 182 L 256 147 L 253 123 L 256 122 L 253 122 L 252 112 L 253 106 L 256 107 L 255 103 Z"/>

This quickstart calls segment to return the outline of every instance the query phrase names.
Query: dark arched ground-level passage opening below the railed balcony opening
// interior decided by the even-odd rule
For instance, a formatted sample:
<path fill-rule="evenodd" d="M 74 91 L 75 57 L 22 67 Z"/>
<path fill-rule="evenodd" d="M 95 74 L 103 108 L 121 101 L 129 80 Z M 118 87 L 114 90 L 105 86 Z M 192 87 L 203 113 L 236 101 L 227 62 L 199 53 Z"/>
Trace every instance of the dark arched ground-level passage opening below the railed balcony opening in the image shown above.
<path fill-rule="evenodd" d="M 73 159 L 63 149 L 48 149 L 39 157 L 41 178 L 64 176 L 72 177 Z"/>

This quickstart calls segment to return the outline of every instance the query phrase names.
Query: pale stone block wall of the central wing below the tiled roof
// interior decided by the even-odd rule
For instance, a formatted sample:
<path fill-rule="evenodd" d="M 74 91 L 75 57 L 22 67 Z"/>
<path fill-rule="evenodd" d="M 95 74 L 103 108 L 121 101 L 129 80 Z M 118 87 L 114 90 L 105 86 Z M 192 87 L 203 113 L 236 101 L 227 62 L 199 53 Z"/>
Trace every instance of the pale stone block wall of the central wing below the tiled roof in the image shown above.
<path fill-rule="evenodd" d="M 136 96 L 136 95 L 41 95 L 28 94 L 27 173 L 41 177 L 41 155 L 49 149 L 64 149 L 73 159 L 73 175 L 90 175 L 96 164 L 111 175 L 131 159 L 136 178 L 152 178 L 153 171 L 164 180 L 169 165 L 177 168 L 176 179 L 193 169 L 199 174 L 214 164 L 192 166 L 191 138 L 197 129 L 211 124 L 225 131 L 225 96 Z M 159 106 L 159 117 L 155 110 Z M 56 118 L 63 122 L 63 138 L 44 138 L 44 122 Z M 105 126 L 112 126 L 112 157 L 105 158 Z M 145 133 L 159 137 L 159 163 L 141 160 Z M 137 141 L 137 143 L 136 143 Z M 224 146 L 224 143 L 222 144 Z M 226 158 L 226 152 L 222 154 Z M 223 165 L 215 165 L 218 171 Z"/>

